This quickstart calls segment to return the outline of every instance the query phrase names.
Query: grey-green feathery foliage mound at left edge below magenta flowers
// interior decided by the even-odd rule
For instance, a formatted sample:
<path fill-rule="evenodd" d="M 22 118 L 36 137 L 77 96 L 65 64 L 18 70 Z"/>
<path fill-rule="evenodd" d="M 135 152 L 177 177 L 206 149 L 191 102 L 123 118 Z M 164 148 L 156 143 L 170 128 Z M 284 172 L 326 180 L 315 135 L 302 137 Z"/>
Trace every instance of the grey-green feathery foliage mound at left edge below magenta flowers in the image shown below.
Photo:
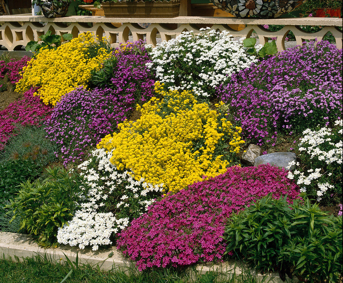
<path fill-rule="evenodd" d="M 56 160 L 57 144 L 46 138 L 43 126 L 18 125 L 16 132 L 9 138 L 0 151 L 0 163 L 11 159 L 31 157 L 37 166 L 43 167 Z"/>

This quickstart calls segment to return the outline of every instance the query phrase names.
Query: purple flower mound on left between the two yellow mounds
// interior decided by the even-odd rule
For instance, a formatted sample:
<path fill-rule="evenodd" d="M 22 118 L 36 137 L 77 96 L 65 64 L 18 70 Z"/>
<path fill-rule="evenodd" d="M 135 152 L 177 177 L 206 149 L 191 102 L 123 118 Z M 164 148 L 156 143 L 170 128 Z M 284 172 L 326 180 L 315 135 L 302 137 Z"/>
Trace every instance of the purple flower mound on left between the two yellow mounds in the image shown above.
<path fill-rule="evenodd" d="M 113 89 L 85 90 L 79 87 L 57 103 L 45 130 L 48 137 L 60 146 L 56 156 L 60 156 L 66 165 L 88 157 L 87 150 L 113 133 L 132 110 L 129 99 Z"/>

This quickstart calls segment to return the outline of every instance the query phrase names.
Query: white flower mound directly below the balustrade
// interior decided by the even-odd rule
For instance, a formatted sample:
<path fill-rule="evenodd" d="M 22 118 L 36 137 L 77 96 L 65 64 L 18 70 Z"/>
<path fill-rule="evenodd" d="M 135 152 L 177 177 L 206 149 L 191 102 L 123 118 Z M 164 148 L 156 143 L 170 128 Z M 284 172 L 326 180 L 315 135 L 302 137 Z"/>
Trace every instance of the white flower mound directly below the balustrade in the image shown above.
<path fill-rule="evenodd" d="M 226 31 L 211 30 L 197 35 L 192 31 L 182 32 L 175 39 L 163 41 L 153 48 L 152 62 L 147 66 L 155 66 L 157 78 L 161 83 L 171 84 L 170 89 L 192 90 L 198 96 L 209 97 L 206 89 L 217 87 L 228 76 L 257 62 L 255 56 L 245 52 L 242 41 Z M 261 47 L 256 46 L 256 49 Z M 187 68 L 194 68 L 187 77 L 180 77 L 175 71 L 179 68 L 175 62 L 180 60 Z M 180 86 L 173 85 L 176 80 L 180 80 Z"/>

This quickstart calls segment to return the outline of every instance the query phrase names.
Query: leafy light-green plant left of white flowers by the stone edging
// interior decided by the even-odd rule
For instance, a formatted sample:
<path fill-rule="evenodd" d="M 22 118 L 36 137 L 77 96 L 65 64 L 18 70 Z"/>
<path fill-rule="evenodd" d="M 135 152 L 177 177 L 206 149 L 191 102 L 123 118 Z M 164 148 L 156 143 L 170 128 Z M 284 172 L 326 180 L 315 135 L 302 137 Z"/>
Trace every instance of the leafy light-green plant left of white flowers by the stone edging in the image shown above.
<path fill-rule="evenodd" d="M 64 168 L 48 168 L 44 177 L 22 183 L 7 208 L 12 219 L 21 218 L 21 229 L 39 236 L 38 243 L 47 246 L 55 241 L 58 228 L 71 220 L 82 190 L 80 176 Z"/>

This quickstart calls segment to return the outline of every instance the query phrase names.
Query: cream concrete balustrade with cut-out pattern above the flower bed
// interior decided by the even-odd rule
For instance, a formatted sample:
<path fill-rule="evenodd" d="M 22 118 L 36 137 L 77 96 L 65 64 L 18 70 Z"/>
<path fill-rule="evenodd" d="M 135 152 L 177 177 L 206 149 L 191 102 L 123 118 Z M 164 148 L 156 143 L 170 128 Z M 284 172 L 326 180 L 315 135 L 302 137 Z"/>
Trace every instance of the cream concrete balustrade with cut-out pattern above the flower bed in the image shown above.
<path fill-rule="evenodd" d="M 138 23 L 150 23 L 146 28 Z M 40 35 L 48 30 L 62 35 L 72 33 L 77 37 L 82 32 L 93 32 L 97 36 L 105 34 L 110 39 L 112 46 L 118 46 L 121 42 L 129 40 L 130 32 L 133 41 L 143 39 L 146 36 L 147 44 L 156 45 L 156 35 L 160 35 L 162 41 L 169 40 L 182 31 L 200 32 L 200 27 L 210 26 L 215 30 L 229 31 L 235 37 L 250 37 L 252 32 L 258 35 L 260 43 L 268 41 L 268 37 L 277 37 L 278 50 L 285 50 L 285 38 L 292 31 L 297 44 L 302 44 L 306 39 L 318 38 L 320 41 L 324 35 L 331 32 L 335 38 L 336 46 L 342 48 L 342 19 L 339 18 L 291 18 L 291 19 L 236 19 L 216 17 L 179 16 L 171 19 L 164 18 L 105 18 L 103 16 L 70 16 L 65 18 L 48 19 L 44 16 L 0 16 L 0 45 L 8 50 L 18 50 L 26 46 L 29 41 L 37 41 Z M 233 30 L 229 25 L 245 24 L 241 31 Z M 284 25 L 277 32 L 268 31 L 263 25 Z M 318 25 L 323 27 L 316 33 L 309 33 L 300 29 L 303 25 Z"/>

